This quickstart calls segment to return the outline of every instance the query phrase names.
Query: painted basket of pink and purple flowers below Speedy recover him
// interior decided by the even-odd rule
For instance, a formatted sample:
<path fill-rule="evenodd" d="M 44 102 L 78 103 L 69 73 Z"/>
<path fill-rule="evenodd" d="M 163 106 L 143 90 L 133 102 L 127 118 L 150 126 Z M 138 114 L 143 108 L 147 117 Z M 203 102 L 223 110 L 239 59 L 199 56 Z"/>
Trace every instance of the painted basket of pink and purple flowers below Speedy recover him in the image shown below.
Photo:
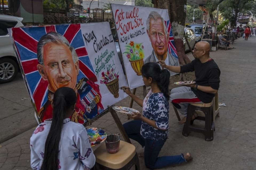
<path fill-rule="evenodd" d="M 101 84 L 106 84 L 107 89 L 111 94 L 114 95 L 115 98 L 119 97 L 119 75 L 115 73 L 115 69 L 107 70 L 106 73 L 101 73 L 102 77 L 100 80 Z"/>

